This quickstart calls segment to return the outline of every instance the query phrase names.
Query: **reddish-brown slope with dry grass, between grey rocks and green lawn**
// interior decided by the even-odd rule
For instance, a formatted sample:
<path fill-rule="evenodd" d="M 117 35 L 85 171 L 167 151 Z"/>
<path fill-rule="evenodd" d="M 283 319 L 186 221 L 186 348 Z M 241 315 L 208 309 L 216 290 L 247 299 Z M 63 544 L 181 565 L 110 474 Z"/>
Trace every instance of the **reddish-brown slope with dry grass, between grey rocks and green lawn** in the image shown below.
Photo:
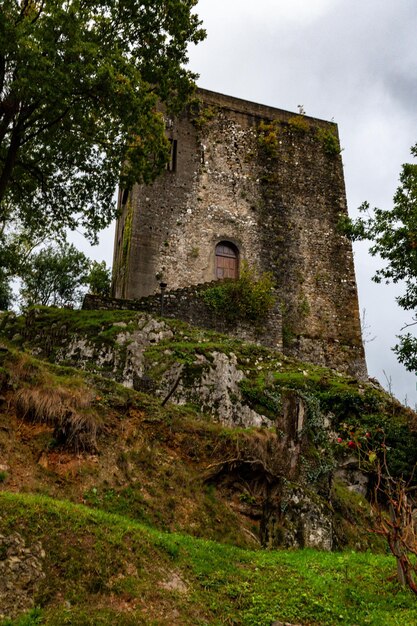
<path fill-rule="evenodd" d="M 20 351 L 3 350 L 0 359 L 8 381 L 0 411 L 6 463 L 0 489 L 67 498 L 165 530 L 256 545 L 238 514 L 205 482 L 207 466 L 229 456 L 242 433 Z M 61 424 L 67 413 L 70 419 Z"/>

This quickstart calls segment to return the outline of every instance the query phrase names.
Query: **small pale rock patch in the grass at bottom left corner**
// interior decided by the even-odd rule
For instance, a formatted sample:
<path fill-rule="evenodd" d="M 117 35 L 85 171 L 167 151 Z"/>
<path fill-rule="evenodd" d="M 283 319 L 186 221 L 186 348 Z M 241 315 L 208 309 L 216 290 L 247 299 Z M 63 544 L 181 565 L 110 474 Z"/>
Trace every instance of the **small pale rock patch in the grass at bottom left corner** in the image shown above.
<path fill-rule="evenodd" d="M 0 619 L 33 608 L 36 589 L 45 578 L 44 558 L 39 542 L 26 546 L 18 533 L 0 535 Z"/>

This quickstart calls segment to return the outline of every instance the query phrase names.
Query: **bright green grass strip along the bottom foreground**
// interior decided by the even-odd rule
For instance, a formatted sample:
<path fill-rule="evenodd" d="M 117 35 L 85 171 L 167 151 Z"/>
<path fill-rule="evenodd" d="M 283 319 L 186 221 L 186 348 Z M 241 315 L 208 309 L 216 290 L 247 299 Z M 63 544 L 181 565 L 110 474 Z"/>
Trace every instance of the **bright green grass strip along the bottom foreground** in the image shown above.
<path fill-rule="evenodd" d="M 389 556 L 249 551 L 40 496 L 0 502 L 0 532 L 46 551 L 40 614 L 16 626 L 417 623 L 416 598 L 395 582 Z"/>

